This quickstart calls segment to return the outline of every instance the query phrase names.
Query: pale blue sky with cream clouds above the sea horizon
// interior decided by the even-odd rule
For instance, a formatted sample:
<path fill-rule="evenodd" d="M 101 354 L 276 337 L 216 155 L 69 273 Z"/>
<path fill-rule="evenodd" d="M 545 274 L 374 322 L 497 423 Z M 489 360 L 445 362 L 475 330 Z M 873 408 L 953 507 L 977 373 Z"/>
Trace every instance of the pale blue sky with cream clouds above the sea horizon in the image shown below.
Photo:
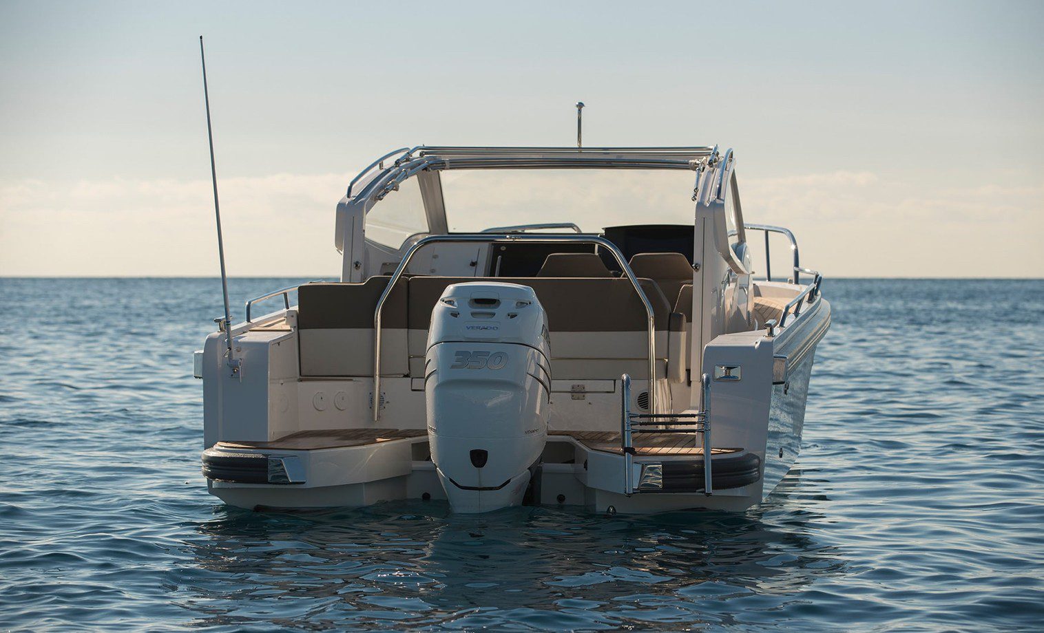
<path fill-rule="evenodd" d="M 218 273 L 203 34 L 231 275 L 336 277 L 372 160 L 570 145 L 583 100 L 590 146 L 734 148 L 744 219 L 828 277 L 1042 277 L 1042 31 L 1010 1 L 2 0 L 0 275 Z"/>

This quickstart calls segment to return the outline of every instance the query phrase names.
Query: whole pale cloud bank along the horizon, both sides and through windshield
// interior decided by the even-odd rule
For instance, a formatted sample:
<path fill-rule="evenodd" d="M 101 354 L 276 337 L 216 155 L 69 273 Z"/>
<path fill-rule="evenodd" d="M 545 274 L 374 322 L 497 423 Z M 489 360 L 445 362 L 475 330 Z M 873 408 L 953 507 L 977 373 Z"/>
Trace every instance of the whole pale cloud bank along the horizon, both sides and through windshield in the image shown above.
<path fill-rule="evenodd" d="M 234 275 L 337 276 L 334 210 L 350 174 L 220 181 Z M 444 174 L 455 230 L 691 221 L 689 172 Z M 982 182 L 978 180 L 977 182 Z M 1044 276 L 1044 186 L 928 187 L 867 171 L 740 176 L 744 217 L 788 226 L 829 276 Z M 775 262 L 774 262 L 775 263 Z M 0 186 L 0 274 L 213 275 L 209 180 Z"/>

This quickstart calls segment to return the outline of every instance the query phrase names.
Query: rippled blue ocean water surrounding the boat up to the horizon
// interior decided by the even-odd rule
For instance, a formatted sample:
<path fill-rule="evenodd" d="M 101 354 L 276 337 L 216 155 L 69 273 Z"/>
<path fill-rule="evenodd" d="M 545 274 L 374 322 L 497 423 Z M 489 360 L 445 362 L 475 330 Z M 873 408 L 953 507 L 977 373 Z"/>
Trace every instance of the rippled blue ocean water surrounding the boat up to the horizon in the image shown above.
<path fill-rule="evenodd" d="M 300 279 L 234 279 L 241 300 Z M 1040 630 L 1044 282 L 827 279 L 765 504 L 609 517 L 206 492 L 215 279 L 0 279 L 0 630 Z"/>

